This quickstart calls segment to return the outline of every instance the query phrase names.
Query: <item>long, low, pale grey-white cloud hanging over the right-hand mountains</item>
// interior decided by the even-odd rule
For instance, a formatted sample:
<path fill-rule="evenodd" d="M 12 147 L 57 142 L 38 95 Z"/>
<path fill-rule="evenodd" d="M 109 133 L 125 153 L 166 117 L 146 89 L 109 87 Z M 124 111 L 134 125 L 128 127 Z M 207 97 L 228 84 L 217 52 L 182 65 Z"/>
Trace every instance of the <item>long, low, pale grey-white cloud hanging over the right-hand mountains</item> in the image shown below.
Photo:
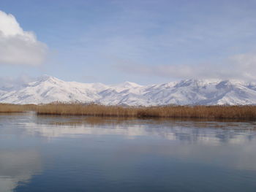
<path fill-rule="evenodd" d="M 122 72 L 179 79 L 237 79 L 256 80 L 256 53 L 232 55 L 219 64 L 197 65 L 143 65 L 131 61 L 116 61 L 115 67 Z"/>

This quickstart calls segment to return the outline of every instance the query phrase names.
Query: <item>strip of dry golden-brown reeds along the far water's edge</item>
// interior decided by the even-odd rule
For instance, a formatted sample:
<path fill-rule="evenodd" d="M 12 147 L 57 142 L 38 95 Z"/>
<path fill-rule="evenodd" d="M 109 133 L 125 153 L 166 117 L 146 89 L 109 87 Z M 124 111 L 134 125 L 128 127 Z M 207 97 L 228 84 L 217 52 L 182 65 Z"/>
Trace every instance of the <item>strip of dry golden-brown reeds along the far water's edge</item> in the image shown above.
<path fill-rule="evenodd" d="M 121 107 L 99 104 L 0 104 L 0 112 L 35 111 L 37 115 L 90 115 L 135 118 L 208 118 L 256 120 L 256 106 Z"/>

